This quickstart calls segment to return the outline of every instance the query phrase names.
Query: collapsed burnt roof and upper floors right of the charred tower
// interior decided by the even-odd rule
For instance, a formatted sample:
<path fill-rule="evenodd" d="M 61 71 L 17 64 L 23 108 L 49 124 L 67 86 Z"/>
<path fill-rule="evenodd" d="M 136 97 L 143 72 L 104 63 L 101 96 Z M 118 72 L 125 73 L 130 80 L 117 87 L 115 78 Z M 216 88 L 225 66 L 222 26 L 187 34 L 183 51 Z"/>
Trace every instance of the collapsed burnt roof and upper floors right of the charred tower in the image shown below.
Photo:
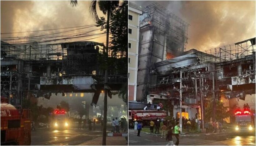
<path fill-rule="evenodd" d="M 207 102 L 213 91 L 217 100 L 220 94 L 227 99 L 244 100 L 246 94 L 255 94 L 255 38 L 204 52 L 191 49 L 156 62 L 149 77 L 151 97 L 159 95 L 179 101 L 180 71 L 185 105 L 196 105 L 201 94 Z"/>

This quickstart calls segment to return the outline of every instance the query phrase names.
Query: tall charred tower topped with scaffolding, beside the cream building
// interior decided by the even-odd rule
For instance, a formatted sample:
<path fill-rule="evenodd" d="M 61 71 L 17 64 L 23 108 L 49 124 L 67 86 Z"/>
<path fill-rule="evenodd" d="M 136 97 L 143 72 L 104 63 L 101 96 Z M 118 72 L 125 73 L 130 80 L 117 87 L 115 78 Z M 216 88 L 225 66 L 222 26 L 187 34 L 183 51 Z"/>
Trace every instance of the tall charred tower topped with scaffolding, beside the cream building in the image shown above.
<path fill-rule="evenodd" d="M 158 3 L 142 9 L 137 76 L 137 101 L 146 102 L 154 63 L 178 56 L 186 49 L 189 24 Z"/>

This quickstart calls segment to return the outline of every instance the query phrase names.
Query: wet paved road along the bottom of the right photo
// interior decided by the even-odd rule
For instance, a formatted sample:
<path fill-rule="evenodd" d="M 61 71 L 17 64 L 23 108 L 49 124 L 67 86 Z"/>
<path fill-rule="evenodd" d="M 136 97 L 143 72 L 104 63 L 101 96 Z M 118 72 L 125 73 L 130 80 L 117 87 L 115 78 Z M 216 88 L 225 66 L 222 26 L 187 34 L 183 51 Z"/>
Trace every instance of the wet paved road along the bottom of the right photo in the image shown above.
<path fill-rule="evenodd" d="M 134 132 L 129 133 L 129 145 L 166 145 L 165 138 L 141 133 L 141 137 Z M 174 143 L 176 142 L 173 136 Z M 181 136 L 179 145 L 256 145 L 255 134 L 240 134 L 234 132 L 210 135 Z"/>

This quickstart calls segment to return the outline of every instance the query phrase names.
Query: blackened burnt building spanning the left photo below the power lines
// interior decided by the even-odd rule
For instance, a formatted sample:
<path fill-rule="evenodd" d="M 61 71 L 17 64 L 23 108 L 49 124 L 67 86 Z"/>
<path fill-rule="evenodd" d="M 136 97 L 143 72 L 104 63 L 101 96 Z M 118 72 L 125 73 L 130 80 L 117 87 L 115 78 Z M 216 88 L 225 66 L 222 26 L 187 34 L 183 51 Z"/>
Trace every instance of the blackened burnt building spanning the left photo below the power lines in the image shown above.
<path fill-rule="evenodd" d="M 103 48 L 103 43 L 92 41 L 15 45 L 1 41 L 1 96 L 12 96 L 11 102 L 18 106 L 28 93 L 49 99 L 52 93 L 101 91 L 104 75 L 98 58 Z M 121 58 L 112 58 L 122 63 Z M 108 79 L 109 88 L 118 90 L 127 75 L 110 67 Z"/>

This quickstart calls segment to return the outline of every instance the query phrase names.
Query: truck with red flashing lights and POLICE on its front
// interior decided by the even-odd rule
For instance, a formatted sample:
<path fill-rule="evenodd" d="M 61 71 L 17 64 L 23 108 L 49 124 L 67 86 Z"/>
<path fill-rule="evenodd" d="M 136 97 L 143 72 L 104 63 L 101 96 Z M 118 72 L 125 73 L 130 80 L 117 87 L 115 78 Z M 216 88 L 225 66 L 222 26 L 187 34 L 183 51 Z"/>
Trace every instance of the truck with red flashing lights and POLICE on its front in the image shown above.
<path fill-rule="evenodd" d="M 255 130 L 254 116 L 249 110 L 237 110 L 235 112 L 235 122 L 235 131 L 237 132 L 254 132 Z"/>

